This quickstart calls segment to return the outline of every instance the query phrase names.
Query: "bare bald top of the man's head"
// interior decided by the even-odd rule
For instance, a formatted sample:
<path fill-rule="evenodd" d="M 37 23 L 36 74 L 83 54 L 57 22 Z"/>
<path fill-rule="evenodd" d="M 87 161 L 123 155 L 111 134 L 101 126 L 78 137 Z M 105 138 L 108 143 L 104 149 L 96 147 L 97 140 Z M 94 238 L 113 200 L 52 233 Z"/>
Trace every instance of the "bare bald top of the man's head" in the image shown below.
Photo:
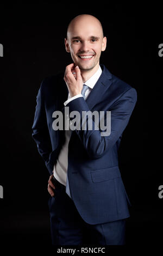
<path fill-rule="evenodd" d="M 72 33 L 72 31 L 77 31 L 79 27 L 96 27 L 96 30 L 98 29 L 99 33 L 101 34 L 103 38 L 103 28 L 101 25 L 101 22 L 95 17 L 90 14 L 81 14 L 76 17 L 74 17 L 73 20 L 68 25 L 67 28 L 67 40 L 69 38 L 69 35 Z M 76 32 L 77 33 L 77 32 Z"/>

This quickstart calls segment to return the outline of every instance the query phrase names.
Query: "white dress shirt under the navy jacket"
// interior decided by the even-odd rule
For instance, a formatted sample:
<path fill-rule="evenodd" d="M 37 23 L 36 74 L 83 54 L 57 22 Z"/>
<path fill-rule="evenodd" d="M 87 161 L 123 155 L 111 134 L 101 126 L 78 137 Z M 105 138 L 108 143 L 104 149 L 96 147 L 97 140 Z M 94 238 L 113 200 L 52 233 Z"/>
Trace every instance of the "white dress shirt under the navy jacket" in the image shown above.
<path fill-rule="evenodd" d="M 101 66 L 99 66 L 98 70 L 96 71 L 95 74 L 93 74 L 89 80 L 87 80 L 84 84 L 88 86 L 89 88 L 85 92 L 85 99 L 87 99 L 87 96 L 90 94 L 91 90 L 95 86 L 98 78 L 102 74 L 102 69 Z M 64 105 L 66 106 L 68 102 L 77 99 L 78 97 L 83 97 L 82 94 L 75 95 L 73 97 L 70 96 L 68 93 L 68 99 L 64 102 Z M 66 126 L 69 127 L 69 118 L 66 119 Z M 67 178 L 67 168 L 68 168 L 68 143 L 70 141 L 71 137 L 71 132 L 72 130 L 65 130 L 65 143 L 62 145 L 62 148 L 60 150 L 57 162 L 54 164 L 54 169 L 53 169 L 53 175 L 55 179 L 57 179 L 61 184 L 66 186 L 66 178 Z"/>

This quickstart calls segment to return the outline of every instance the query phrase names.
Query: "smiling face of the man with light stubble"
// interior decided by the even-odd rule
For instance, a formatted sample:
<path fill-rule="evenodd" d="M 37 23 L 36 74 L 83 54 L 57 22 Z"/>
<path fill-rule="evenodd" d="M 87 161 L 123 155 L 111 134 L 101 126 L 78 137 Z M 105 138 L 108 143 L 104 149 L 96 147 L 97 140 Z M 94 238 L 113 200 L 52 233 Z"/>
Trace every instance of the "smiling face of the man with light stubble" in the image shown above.
<path fill-rule="evenodd" d="M 103 38 L 102 28 L 98 23 L 79 21 L 68 31 L 65 46 L 80 70 L 91 70 L 99 64 L 101 51 L 106 48 L 106 38 Z"/>

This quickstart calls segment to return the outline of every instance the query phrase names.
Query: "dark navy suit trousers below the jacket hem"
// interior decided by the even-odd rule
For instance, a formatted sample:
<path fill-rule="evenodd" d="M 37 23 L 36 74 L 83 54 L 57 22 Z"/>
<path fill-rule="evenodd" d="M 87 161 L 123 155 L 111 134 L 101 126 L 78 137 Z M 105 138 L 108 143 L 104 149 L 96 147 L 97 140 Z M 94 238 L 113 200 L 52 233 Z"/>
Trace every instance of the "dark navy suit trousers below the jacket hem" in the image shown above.
<path fill-rule="evenodd" d="M 126 219 L 102 224 L 86 223 L 66 187 L 54 178 L 54 197 L 49 198 L 53 245 L 124 245 Z M 98 206 L 97 206 L 98 207 Z"/>

